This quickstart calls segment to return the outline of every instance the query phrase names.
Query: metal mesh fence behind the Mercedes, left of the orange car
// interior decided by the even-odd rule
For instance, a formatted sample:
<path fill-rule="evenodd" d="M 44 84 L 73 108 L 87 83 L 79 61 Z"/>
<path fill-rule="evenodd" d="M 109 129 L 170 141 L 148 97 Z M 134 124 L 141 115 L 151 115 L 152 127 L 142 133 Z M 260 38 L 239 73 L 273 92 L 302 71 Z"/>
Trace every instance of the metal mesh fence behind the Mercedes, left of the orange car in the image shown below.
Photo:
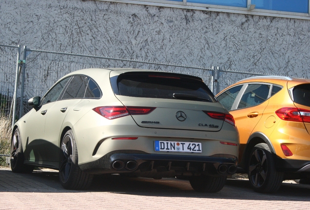
<path fill-rule="evenodd" d="M 44 93 L 65 74 L 87 68 L 136 68 L 201 77 L 214 88 L 214 68 L 130 60 L 113 57 L 60 53 L 0 45 L 0 112 L 12 124 L 28 110 L 27 100 Z M 3 101 L 3 102 L 2 102 Z"/>

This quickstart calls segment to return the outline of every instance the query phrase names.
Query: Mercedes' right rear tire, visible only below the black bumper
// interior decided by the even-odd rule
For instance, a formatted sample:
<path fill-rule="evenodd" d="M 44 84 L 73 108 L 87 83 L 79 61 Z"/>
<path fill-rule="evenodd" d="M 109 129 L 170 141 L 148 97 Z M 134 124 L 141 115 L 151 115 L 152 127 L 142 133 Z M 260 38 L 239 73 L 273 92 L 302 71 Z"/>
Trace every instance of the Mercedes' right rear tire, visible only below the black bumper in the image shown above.
<path fill-rule="evenodd" d="M 194 191 L 197 192 L 219 192 L 223 189 L 226 178 L 226 176 L 214 177 L 201 175 L 190 178 L 190 183 Z"/>

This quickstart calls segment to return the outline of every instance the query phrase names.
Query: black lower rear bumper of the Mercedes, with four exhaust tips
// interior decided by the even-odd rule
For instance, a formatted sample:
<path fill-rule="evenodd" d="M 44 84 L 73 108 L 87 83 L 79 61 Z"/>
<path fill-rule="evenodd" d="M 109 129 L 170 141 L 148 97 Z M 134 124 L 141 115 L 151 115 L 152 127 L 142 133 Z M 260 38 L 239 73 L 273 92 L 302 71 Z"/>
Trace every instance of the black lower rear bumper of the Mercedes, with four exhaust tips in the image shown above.
<path fill-rule="evenodd" d="M 92 174 L 134 173 L 137 176 L 232 175 L 237 157 L 232 155 L 184 156 L 147 154 L 141 151 L 114 151 L 79 167 Z"/>

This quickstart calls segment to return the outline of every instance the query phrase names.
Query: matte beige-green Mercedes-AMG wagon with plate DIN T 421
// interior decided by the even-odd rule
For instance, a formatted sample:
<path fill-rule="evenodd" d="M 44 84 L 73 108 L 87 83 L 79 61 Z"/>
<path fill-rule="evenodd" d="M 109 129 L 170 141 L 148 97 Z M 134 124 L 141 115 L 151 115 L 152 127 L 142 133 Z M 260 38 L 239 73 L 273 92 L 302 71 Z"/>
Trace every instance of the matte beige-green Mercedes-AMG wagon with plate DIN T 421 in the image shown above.
<path fill-rule="evenodd" d="M 77 70 L 28 104 L 13 128 L 13 172 L 56 169 L 65 189 L 97 174 L 177 177 L 199 192 L 220 191 L 236 172 L 234 119 L 199 77 Z"/>

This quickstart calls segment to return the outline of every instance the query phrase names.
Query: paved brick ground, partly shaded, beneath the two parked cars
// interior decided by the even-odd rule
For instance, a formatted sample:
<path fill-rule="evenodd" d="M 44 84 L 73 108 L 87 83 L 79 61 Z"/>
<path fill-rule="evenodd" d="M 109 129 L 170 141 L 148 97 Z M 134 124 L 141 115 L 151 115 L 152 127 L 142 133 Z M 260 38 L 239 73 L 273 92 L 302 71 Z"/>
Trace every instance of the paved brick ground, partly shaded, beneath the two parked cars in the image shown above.
<path fill-rule="evenodd" d="M 229 179 L 216 193 L 195 192 L 186 180 L 96 176 L 87 191 L 64 190 L 58 172 L 15 174 L 0 168 L 0 210 L 309 210 L 310 185 L 282 183 L 275 194 Z"/>

